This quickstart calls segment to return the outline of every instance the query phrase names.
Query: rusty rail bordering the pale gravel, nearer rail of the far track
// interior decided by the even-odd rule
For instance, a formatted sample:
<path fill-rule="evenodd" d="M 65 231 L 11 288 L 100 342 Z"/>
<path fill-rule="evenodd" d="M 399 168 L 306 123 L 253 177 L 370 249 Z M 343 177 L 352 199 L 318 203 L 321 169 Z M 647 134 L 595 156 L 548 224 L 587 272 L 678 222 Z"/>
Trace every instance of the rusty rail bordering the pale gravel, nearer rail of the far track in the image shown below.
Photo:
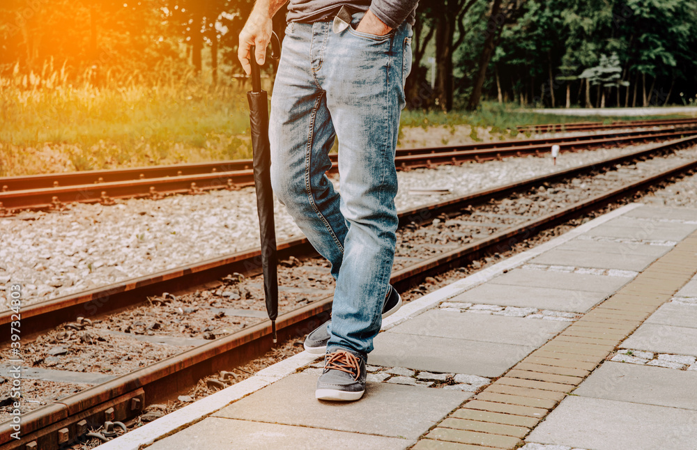
<path fill-rule="evenodd" d="M 585 139 L 583 141 L 560 142 L 562 151 L 604 146 L 608 143 L 621 144 L 636 141 L 653 141 L 673 139 L 686 134 L 697 134 L 697 130 L 658 130 L 641 134 L 623 134 L 621 136 L 600 139 Z M 496 150 L 456 150 L 449 147 L 431 148 L 431 153 L 424 155 L 399 155 L 395 159 L 398 169 L 431 167 L 435 164 L 457 164 L 465 161 L 484 161 L 500 159 L 507 156 L 539 154 L 546 151 L 549 143 L 542 146 L 521 145 L 497 148 Z M 337 171 L 338 164 L 332 164 L 330 171 Z M 49 189 L 25 189 L 20 191 L 0 192 L 0 213 L 7 214 L 13 210 L 29 208 L 62 208 L 65 203 L 103 203 L 110 204 L 114 199 L 153 198 L 164 194 L 199 194 L 208 189 L 237 189 L 240 186 L 254 183 L 252 170 L 223 171 L 202 173 L 190 176 L 147 178 L 114 181 L 87 185 L 57 186 Z"/>

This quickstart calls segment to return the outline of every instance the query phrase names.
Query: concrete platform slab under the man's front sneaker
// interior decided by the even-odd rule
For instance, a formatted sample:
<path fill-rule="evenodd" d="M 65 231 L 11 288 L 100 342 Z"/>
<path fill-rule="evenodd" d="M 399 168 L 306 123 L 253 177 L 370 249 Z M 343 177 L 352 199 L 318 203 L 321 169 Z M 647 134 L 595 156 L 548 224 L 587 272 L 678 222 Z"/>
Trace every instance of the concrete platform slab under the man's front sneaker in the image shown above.
<path fill-rule="evenodd" d="M 314 375 L 290 375 L 213 416 L 415 440 L 472 395 L 368 382 L 360 401 L 335 403 L 314 398 L 316 382 Z"/>

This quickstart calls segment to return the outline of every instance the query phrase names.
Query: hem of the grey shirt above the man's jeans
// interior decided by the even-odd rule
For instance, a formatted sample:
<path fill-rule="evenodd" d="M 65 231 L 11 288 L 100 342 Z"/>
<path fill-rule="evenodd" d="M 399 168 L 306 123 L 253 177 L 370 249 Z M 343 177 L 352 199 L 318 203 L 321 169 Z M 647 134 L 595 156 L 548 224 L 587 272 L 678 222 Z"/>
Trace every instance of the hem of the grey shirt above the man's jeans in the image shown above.
<path fill-rule="evenodd" d="M 378 19 L 390 28 L 397 28 L 404 20 L 414 24 L 415 10 L 419 0 L 290 0 L 288 3 L 288 22 L 317 22 L 333 17 L 342 5 L 351 10 L 370 9 Z"/>

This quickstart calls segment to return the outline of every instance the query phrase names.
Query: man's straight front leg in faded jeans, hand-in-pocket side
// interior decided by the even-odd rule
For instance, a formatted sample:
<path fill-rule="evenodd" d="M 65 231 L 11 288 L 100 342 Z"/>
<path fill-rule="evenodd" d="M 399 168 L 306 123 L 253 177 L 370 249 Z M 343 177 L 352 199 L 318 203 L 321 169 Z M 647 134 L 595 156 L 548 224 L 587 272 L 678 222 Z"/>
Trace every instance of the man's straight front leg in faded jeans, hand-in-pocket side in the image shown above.
<path fill-rule="evenodd" d="M 340 208 L 349 224 L 328 350 L 349 350 L 364 361 L 380 329 L 395 253 L 395 147 L 410 38 L 408 24 L 387 37 L 328 29 L 316 71 L 339 137 Z"/>

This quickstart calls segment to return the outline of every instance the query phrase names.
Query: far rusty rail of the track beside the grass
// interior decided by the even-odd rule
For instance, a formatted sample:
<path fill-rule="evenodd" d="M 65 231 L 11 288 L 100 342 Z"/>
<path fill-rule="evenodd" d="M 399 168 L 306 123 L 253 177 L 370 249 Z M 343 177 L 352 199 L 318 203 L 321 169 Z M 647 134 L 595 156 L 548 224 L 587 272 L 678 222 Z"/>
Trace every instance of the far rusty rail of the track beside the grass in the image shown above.
<path fill-rule="evenodd" d="M 689 126 L 693 125 L 693 126 Z M 675 128 L 675 127 L 673 127 Z M 696 130 L 694 123 L 685 124 L 681 130 Z M 555 143 L 581 142 L 595 139 L 612 139 L 636 134 L 660 134 L 666 129 L 625 131 L 605 134 L 583 134 L 572 137 L 552 137 L 543 139 L 508 139 L 506 141 L 470 143 L 459 146 L 439 146 L 424 148 L 398 148 L 396 155 L 427 155 L 430 153 L 447 153 L 469 150 L 493 150 L 507 147 L 537 147 L 545 149 Z M 337 162 L 337 154 L 329 155 L 332 162 Z M 195 164 L 169 164 L 165 166 L 136 167 L 133 169 L 94 170 L 63 173 L 46 173 L 42 175 L 12 176 L 0 178 L 0 191 L 20 191 L 27 189 L 49 189 L 73 185 L 103 185 L 104 183 L 148 180 L 152 178 L 185 177 L 216 172 L 234 172 L 252 169 L 252 160 L 229 160 L 217 162 L 200 162 Z"/>

